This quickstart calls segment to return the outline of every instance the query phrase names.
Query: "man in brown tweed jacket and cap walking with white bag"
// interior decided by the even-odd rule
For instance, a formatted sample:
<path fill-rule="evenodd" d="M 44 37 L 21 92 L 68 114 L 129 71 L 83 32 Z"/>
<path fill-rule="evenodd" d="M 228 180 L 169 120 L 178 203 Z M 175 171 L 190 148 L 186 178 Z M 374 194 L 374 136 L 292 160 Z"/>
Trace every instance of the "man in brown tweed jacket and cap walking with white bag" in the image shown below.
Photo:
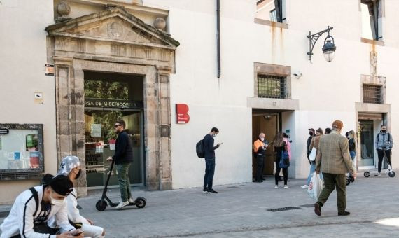
<path fill-rule="evenodd" d="M 341 135 L 344 123 L 335 120 L 332 123 L 332 132 L 320 137 L 316 153 L 316 173 L 323 171 L 324 188 L 314 204 L 314 213 L 321 216 L 321 207 L 328 197 L 337 190 L 338 216 L 348 216 L 346 211 L 346 177 L 350 172 L 356 179 L 356 169 L 353 169 L 351 155 L 349 155 L 348 140 Z"/>

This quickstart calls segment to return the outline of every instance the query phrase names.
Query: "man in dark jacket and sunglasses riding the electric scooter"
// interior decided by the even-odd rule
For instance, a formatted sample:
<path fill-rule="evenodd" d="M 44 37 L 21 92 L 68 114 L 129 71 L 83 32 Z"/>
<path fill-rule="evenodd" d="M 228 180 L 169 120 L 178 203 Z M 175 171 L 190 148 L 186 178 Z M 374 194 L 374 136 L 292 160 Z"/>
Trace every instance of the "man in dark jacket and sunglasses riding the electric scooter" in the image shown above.
<path fill-rule="evenodd" d="M 122 199 L 118 206 L 116 206 L 116 209 L 121 209 L 133 202 L 132 193 L 130 193 L 130 179 L 127 174 L 133 162 L 133 149 L 129 135 L 125 132 L 125 121 L 118 120 L 113 127 L 116 134 L 118 134 L 115 144 L 115 154 L 106 160 L 115 160 L 116 170 L 118 171 L 120 197 Z"/>

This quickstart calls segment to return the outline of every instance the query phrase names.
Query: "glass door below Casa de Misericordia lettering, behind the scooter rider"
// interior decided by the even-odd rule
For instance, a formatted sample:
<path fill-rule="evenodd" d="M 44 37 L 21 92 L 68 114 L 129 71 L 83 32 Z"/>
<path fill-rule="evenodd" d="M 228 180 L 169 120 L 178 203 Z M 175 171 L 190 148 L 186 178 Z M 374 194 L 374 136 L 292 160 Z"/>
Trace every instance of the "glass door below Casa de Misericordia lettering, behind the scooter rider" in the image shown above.
<path fill-rule="evenodd" d="M 106 158 L 115 153 L 117 134 L 113 130 L 116 120 L 125 120 L 125 131 L 132 140 L 134 162 L 130 167 L 130 183 L 144 185 L 144 130 L 143 113 L 134 109 L 85 109 L 85 165 L 87 187 L 103 187 L 109 172 Z M 118 186 L 114 167 L 109 186 Z"/>

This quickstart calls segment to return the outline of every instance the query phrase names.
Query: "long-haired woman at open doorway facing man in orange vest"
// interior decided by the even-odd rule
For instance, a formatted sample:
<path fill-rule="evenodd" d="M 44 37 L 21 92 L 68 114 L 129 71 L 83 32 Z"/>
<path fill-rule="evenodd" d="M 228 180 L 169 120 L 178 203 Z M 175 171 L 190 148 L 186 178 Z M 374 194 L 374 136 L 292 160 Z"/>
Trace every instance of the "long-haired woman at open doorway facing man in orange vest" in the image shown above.
<path fill-rule="evenodd" d="M 274 153 L 276 154 L 276 173 L 274 174 L 274 179 L 276 181 L 276 186 L 274 188 L 279 188 L 279 174 L 281 169 L 283 169 L 283 175 L 284 175 L 284 188 L 288 188 L 287 185 L 287 180 L 288 180 L 288 167 L 281 167 L 281 160 L 282 155 L 288 156 L 288 148 L 286 141 L 283 140 L 283 132 L 278 132 L 276 134 L 276 137 L 274 138 L 273 141 L 273 148 L 274 148 Z M 289 160 L 288 160 L 289 161 Z"/>

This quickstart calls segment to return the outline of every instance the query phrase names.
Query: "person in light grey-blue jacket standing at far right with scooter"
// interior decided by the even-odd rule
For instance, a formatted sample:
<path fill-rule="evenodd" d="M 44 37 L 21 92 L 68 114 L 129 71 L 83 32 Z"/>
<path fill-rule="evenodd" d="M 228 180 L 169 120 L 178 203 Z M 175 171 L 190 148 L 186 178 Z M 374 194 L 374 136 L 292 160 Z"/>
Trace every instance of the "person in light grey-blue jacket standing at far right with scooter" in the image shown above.
<path fill-rule="evenodd" d="M 381 131 L 377 134 L 377 140 L 375 141 L 375 148 L 377 148 L 378 154 L 378 174 L 376 176 L 381 176 L 382 161 L 384 160 L 384 152 L 386 154 L 386 159 L 391 165 L 391 150 L 393 148 L 393 138 L 392 135 L 386 131 L 386 125 L 381 125 Z"/>

